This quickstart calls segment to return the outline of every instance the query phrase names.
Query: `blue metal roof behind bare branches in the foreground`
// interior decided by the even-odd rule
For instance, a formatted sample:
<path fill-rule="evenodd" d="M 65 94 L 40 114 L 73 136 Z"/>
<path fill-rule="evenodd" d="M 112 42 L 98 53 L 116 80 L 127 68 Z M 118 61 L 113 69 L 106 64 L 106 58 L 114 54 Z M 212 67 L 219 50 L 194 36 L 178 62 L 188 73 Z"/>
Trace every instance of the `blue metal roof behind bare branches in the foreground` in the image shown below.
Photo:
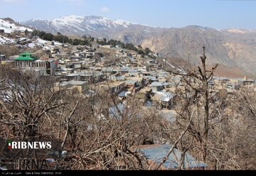
<path fill-rule="evenodd" d="M 166 144 L 166 145 L 159 145 L 159 146 L 153 146 L 150 148 L 142 148 L 140 151 L 144 153 L 146 158 L 149 158 L 151 160 L 154 160 L 156 164 L 161 163 L 164 157 L 166 157 L 167 153 L 171 149 L 172 145 Z M 175 169 L 178 167 L 178 161 L 175 159 L 175 155 L 178 158 L 178 160 L 181 159 L 181 151 L 178 149 L 174 149 L 174 151 L 169 156 L 168 160 L 163 164 L 164 167 L 168 169 Z M 193 158 L 193 156 L 186 153 L 185 160 L 184 160 L 184 167 L 192 168 L 192 167 L 206 167 L 206 163 L 199 162 L 196 160 L 196 158 Z"/>

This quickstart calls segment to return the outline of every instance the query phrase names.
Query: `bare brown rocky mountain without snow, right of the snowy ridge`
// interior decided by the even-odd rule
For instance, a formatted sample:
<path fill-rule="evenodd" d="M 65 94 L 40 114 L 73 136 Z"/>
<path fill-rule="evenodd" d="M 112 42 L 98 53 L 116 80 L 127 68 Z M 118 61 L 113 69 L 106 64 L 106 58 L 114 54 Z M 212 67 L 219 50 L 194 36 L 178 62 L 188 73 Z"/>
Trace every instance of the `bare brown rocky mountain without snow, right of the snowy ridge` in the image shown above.
<path fill-rule="evenodd" d="M 256 72 L 255 45 L 213 28 L 171 28 L 142 41 L 142 47 L 149 47 L 163 55 L 182 57 L 196 64 L 200 62 L 203 44 L 206 45 L 209 64 L 220 63 Z"/>

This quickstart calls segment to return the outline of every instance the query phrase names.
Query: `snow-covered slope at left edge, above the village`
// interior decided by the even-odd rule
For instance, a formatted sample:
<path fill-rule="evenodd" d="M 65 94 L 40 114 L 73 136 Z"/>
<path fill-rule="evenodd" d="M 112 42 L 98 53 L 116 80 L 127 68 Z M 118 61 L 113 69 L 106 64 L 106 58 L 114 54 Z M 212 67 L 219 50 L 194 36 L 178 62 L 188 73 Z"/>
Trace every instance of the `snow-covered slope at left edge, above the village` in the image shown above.
<path fill-rule="evenodd" d="M 12 31 L 33 31 L 31 28 L 21 26 L 13 21 L 11 18 L 0 18 L 0 30 L 4 30 L 4 33 L 11 33 Z"/>

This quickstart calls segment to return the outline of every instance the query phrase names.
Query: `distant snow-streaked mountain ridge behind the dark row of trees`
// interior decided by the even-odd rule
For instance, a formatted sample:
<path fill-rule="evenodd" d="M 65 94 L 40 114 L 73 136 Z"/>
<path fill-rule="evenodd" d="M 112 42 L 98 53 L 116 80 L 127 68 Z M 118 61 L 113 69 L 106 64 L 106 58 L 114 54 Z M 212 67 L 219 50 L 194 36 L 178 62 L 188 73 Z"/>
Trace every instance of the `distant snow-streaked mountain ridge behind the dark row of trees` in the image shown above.
<path fill-rule="evenodd" d="M 65 35 L 92 35 L 97 38 L 117 39 L 124 42 L 140 43 L 142 37 L 150 36 L 159 28 L 142 26 L 122 20 L 112 20 L 102 16 L 63 16 L 51 20 L 23 22 L 23 25 L 38 28 L 48 33 Z"/>

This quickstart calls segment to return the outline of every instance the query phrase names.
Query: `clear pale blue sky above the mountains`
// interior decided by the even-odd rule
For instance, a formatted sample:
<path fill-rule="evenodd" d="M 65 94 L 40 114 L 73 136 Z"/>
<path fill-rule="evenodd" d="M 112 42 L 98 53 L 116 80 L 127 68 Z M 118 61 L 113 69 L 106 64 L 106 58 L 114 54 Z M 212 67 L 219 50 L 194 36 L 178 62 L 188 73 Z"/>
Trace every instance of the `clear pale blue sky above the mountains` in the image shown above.
<path fill-rule="evenodd" d="M 256 0 L 0 0 L 0 18 L 105 16 L 165 28 L 256 29 Z"/>

